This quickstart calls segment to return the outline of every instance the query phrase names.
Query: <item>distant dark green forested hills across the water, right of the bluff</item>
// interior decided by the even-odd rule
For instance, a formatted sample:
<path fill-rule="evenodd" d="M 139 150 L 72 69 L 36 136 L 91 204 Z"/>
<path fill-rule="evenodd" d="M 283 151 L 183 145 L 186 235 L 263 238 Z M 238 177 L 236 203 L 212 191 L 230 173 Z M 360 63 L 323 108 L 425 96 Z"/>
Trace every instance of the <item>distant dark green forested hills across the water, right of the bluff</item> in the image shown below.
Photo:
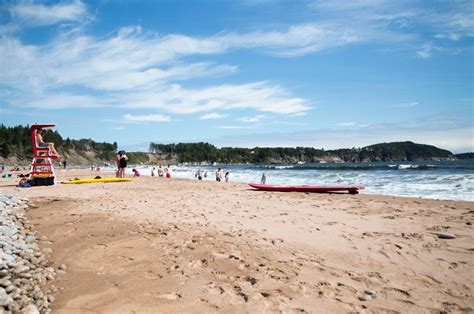
<path fill-rule="evenodd" d="M 180 162 L 295 163 L 447 160 L 447 150 L 413 142 L 394 142 L 363 148 L 323 150 L 314 147 L 217 148 L 209 143 L 150 144 L 150 152 L 177 155 Z"/>

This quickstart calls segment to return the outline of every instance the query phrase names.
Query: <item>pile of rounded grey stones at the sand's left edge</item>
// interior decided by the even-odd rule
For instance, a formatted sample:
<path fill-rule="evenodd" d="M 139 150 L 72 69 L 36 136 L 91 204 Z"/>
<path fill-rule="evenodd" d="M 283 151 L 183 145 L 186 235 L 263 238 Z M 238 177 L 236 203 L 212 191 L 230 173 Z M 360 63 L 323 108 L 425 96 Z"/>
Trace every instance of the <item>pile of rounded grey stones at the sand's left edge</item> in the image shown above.
<path fill-rule="evenodd" d="M 33 226 L 25 211 L 28 199 L 0 194 L 0 313 L 51 313 L 51 288 L 42 291 L 57 272 L 41 251 Z M 64 270 L 62 270 L 64 272 Z"/>

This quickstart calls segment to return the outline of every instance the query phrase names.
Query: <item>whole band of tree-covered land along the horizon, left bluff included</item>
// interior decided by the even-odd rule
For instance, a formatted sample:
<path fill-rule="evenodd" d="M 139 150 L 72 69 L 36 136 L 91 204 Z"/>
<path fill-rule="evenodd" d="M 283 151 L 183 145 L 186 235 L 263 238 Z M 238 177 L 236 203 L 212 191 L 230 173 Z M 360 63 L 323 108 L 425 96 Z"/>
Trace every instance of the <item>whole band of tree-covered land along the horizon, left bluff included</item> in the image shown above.
<path fill-rule="evenodd" d="M 47 130 L 45 142 L 53 142 L 70 165 L 113 164 L 117 143 L 91 139 L 64 139 L 57 131 Z M 314 147 L 217 148 L 209 143 L 150 143 L 149 153 L 128 152 L 131 164 L 157 163 L 296 163 L 296 162 L 368 162 L 457 159 L 450 151 L 413 142 L 394 142 L 363 148 L 324 150 Z M 0 164 L 27 164 L 31 160 L 29 126 L 0 126 Z M 472 153 L 459 158 L 472 158 Z"/>

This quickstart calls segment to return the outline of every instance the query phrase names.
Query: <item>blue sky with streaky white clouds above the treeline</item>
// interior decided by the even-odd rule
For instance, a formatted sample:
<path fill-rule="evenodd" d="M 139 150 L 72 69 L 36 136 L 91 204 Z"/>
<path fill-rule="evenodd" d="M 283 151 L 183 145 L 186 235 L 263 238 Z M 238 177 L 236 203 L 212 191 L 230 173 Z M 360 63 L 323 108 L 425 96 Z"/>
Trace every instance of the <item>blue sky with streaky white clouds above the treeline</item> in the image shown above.
<path fill-rule="evenodd" d="M 64 137 L 474 151 L 472 1 L 6 1 L 0 119 Z"/>

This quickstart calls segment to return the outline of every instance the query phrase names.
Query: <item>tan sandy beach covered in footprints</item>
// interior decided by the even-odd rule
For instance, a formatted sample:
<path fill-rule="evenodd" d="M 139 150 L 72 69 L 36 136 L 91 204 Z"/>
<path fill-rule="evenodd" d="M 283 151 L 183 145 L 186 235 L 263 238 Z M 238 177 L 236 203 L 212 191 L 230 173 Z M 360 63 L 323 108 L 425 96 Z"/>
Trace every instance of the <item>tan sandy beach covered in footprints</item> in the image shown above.
<path fill-rule="evenodd" d="M 96 172 L 60 172 L 61 179 Z M 110 176 L 111 174 L 101 174 Z M 471 312 L 472 202 L 140 177 L 16 188 L 67 273 L 56 313 Z M 456 239 L 439 239 L 437 232 Z M 361 301 L 371 289 L 376 297 Z"/>

